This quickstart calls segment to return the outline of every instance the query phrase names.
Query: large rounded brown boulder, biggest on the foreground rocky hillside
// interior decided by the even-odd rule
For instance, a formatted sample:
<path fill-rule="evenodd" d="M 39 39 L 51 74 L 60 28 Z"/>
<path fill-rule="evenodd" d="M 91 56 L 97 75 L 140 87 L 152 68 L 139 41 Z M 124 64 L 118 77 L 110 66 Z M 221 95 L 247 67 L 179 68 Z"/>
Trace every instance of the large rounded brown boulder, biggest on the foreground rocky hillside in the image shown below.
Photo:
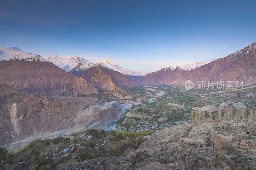
<path fill-rule="evenodd" d="M 231 149 L 231 139 L 222 134 L 212 135 L 212 148 L 215 154 L 228 153 Z"/>

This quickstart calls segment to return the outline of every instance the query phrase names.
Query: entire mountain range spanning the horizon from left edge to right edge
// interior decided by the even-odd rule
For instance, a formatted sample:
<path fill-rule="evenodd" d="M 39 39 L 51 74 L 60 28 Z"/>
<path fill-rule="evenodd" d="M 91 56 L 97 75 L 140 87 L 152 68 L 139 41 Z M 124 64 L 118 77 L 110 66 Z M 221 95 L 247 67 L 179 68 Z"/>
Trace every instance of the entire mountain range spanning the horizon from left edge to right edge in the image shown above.
<path fill-rule="evenodd" d="M 97 93 L 125 86 L 184 85 L 186 80 L 236 81 L 256 84 L 256 43 L 224 58 L 166 67 L 149 74 L 123 69 L 108 60 L 83 57 L 41 57 L 18 47 L 0 47 L 0 83 L 40 95 Z M 70 74 L 71 73 L 71 74 Z"/>

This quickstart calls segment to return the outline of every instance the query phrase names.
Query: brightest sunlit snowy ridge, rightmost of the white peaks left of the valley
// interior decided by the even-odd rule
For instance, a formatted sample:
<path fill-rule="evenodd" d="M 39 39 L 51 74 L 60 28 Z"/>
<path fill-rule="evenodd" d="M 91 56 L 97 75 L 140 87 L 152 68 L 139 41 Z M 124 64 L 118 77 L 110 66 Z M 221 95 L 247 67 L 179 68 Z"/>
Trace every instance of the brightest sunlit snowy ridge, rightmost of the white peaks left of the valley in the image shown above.
<path fill-rule="evenodd" d="M 95 62 L 95 64 L 99 64 L 102 67 L 118 71 L 118 72 L 120 72 L 120 73 L 122 73 L 124 75 L 131 75 L 131 76 L 145 76 L 146 75 L 145 73 L 141 73 L 141 72 L 138 72 L 138 71 L 128 70 L 127 68 L 124 69 L 122 67 L 119 67 L 118 65 L 110 62 L 108 59 L 97 60 Z"/>

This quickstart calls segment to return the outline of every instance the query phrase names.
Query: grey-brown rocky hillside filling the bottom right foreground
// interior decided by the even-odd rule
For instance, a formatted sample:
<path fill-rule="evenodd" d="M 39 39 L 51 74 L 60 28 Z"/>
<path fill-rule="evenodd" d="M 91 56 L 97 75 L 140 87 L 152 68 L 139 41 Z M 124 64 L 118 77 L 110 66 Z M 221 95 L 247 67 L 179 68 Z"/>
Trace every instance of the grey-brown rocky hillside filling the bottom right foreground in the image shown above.
<path fill-rule="evenodd" d="M 181 124 L 155 132 L 121 157 L 60 164 L 58 169 L 256 169 L 256 121 Z"/>

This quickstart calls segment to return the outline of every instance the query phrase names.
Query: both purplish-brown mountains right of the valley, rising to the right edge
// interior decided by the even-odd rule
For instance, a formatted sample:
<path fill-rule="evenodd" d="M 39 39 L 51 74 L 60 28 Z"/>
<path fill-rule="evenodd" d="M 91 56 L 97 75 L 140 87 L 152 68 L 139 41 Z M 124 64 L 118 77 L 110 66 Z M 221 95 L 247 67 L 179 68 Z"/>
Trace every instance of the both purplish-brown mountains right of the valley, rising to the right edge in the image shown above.
<path fill-rule="evenodd" d="M 156 72 L 140 77 L 138 84 L 184 85 L 186 80 L 195 84 L 198 81 L 244 81 L 244 84 L 256 83 L 256 43 L 242 50 L 202 65 L 195 70 L 180 68 L 163 68 Z"/>

